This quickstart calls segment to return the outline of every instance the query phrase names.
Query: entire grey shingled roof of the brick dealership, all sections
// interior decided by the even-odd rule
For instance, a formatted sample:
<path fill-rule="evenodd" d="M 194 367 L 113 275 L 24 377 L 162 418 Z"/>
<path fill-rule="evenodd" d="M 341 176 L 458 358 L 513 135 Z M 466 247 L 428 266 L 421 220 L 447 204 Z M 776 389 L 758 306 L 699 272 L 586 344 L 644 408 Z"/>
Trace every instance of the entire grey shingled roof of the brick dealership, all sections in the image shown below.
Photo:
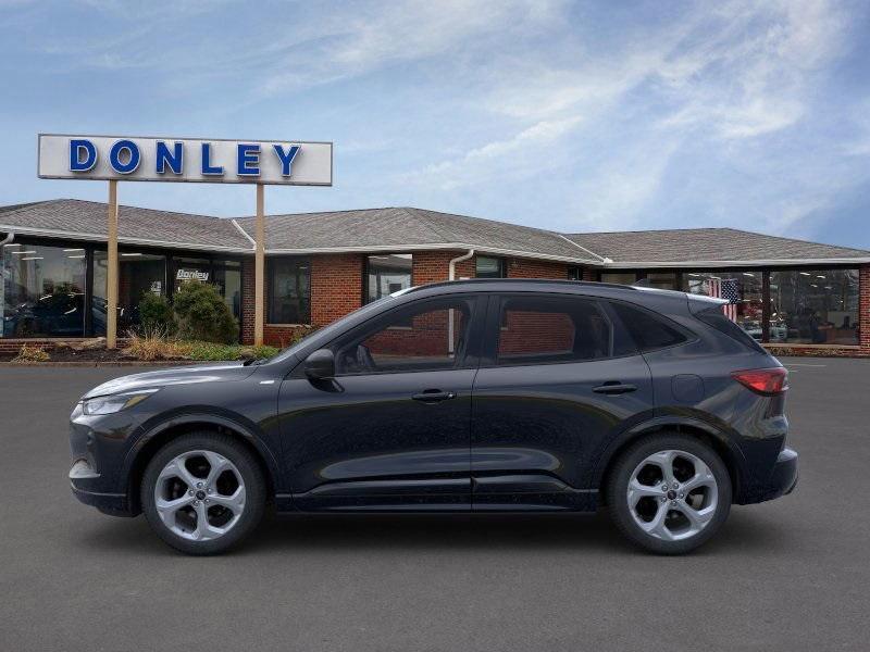
<path fill-rule="evenodd" d="M 253 249 L 253 217 L 119 210 L 119 239 L 126 244 L 236 253 Z M 107 237 L 105 212 L 104 203 L 75 199 L 0 206 L 0 230 L 100 241 Z M 870 251 L 733 228 L 562 235 L 413 208 L 270 215 L 266 240 L 269 253 L 475 249 L 617 268 L 870 262 Z"/>

